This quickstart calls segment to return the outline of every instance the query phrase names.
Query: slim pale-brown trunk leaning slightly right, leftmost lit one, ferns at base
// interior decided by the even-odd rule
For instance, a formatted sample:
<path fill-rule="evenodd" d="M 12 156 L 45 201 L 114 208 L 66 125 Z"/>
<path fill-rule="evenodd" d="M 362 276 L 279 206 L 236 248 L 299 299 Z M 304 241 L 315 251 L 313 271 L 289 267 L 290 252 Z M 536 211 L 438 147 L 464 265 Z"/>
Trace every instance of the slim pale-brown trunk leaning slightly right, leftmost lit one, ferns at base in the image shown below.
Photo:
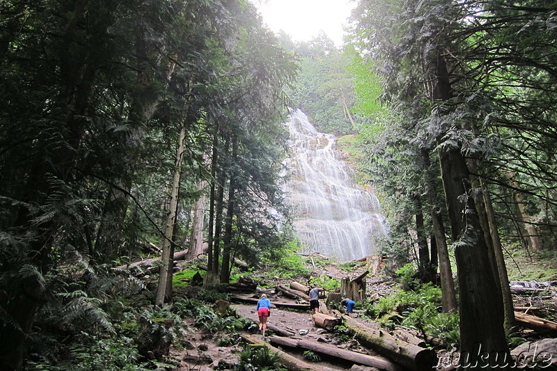
<path fill-rule="evenodd" d="M 165 301 L 172 299 L 172 269 L 174 266 L 174 226 L 176 214 L 178 212 L 178 192 L 180 191 L 180 177 L 182 175 L 182 163 L 184 161 L 184 148 L 186 139 L 186 123 L 182 122 L 180 136 L 178 139 L 178 150 L 174 161 L 174 175 L 171 184 L 171 196 L 168 206 L 168 216 L 166 218 L 166 228 L 164 229 L 164 240 L 162 243 L 162 267 L 157 286 L 157 297 L 155 304 L 162 306 Z"/>

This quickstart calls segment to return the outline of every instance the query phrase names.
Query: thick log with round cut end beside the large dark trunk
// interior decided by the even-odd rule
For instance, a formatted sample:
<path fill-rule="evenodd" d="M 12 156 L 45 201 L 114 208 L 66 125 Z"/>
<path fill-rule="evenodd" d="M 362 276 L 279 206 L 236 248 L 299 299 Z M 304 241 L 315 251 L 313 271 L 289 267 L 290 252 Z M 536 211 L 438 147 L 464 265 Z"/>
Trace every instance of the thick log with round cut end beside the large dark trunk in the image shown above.
<path fill-rule="evenodd" d="M 345 326 L 349 328 L 360 344 L 375 350 L 409 370 L 431 370 L 437 365 L 437 354 L 432 349 L 399 340 L 386 331 L 371 329 L 359 324 L 351 317 L 343 317 Z"/>

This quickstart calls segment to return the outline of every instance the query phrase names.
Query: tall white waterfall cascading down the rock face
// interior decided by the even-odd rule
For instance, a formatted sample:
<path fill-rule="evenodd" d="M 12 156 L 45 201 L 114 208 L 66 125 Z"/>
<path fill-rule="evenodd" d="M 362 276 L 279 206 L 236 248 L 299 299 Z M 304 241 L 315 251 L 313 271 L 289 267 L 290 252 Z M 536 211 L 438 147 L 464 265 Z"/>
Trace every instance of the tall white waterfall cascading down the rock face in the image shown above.
<path fill-rule="evenodd" d="M 300 110 L 286 125 L 291 150 L 286 192 L 302 252 L 340 262 L 372 255 L 377 238 L 387 234 L 377 196 L 354 184 L 352 170 L 337 157 L 334 135 L 317 132 Z"/>

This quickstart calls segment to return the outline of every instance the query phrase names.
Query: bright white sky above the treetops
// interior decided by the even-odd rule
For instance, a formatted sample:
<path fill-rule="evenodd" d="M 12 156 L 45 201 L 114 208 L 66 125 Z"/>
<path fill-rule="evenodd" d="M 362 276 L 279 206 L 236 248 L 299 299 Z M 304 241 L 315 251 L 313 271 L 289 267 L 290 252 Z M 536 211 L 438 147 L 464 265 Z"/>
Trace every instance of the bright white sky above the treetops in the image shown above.
<path fill-rule="evenodd" d="M 252 0 L 269 29 L 281 29 L 295 41 L 309 41 L 323 30 L 337 47 L 354 0 Z"/>

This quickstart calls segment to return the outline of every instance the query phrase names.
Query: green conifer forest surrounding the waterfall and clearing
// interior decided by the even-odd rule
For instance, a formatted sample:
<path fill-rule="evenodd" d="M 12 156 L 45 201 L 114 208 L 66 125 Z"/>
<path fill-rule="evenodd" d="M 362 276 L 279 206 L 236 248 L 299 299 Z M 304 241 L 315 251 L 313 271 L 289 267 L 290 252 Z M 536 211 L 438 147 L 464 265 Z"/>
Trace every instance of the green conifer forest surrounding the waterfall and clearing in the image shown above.
<path fill-rule="evenodd" d="M 337 47 L 249 0 L 0 1 L 1 371 L 178 370 L 176 322 L 224 329 L 203 308 L 240 276 L 317 280 L 283 192 L 292 109 L 379 196 L 380 253 L 439 290 L 457 352 L 513 368 L 510 255 L 557 258 L 557 4 L 354 2 Z"/>

